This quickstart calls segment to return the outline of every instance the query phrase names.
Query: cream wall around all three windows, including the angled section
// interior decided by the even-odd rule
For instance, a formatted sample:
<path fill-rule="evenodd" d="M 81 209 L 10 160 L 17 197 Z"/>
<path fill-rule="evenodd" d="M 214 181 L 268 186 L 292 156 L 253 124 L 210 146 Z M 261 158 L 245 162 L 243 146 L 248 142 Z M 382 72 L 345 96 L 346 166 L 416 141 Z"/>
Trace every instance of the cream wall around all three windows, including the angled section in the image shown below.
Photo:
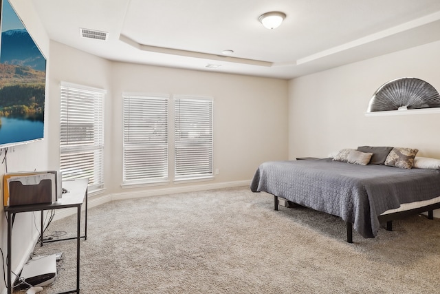
<path fill-rule="evenodd" d="M 266 160 L 287 159 L 287 81 L 233 74 L 179 70 L 111 62 L 61 43 L 51 42 L 50 167 L 59 165 L 61 81 L 107 90 L 105 96 L 105 195 L 142 196 L 206 187 L 207 182 L 122 189 L 122 93 L 185 94 L 214 98 L 214 169 L 209 185 L 250 180 Z M 172 167 L 173 160 L 170 160 Z M 219 186 L 221 187 L 221 186 Z"/>

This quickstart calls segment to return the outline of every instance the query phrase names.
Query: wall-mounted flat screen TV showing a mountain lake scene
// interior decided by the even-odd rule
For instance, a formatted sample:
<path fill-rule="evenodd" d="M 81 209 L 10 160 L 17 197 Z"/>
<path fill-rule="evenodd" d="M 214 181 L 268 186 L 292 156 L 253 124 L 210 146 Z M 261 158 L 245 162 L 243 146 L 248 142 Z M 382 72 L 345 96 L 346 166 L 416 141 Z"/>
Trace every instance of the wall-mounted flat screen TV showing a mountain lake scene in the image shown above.
<path fill-rule="evenodd" d="M 8 0 L 0 0 L 0 149 L 44 136 L 46 59 Z"/>

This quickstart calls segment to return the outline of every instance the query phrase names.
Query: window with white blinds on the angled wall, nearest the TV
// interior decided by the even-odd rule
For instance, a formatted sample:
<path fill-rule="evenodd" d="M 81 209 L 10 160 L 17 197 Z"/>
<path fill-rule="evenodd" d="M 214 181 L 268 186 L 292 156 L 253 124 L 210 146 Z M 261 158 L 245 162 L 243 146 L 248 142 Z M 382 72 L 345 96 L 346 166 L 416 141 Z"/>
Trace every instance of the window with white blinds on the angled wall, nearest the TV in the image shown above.
<path fill-rule="evenodd" d="M 61 84 L 60 169 L 63 180 L 104 187 L 104 90 Z"/>

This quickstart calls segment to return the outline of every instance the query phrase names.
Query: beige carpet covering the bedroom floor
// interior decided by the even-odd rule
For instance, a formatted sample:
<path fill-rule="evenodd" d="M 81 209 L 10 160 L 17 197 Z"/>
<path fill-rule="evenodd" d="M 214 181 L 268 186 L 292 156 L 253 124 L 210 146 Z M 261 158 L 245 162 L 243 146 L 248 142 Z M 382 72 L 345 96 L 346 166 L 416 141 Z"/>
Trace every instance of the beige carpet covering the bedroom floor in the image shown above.
<path fill-rule="evenodd" d="M 310 209 L 273 209 L 248 187 L 120 200 L 89 209 L 81 293 L 440 293 L 440 220 L 414 216 L 374 239 Z M 51 231 L 76 232 L 76 216 Z M 58 279 L 75 287 L 76 241 Z"/>

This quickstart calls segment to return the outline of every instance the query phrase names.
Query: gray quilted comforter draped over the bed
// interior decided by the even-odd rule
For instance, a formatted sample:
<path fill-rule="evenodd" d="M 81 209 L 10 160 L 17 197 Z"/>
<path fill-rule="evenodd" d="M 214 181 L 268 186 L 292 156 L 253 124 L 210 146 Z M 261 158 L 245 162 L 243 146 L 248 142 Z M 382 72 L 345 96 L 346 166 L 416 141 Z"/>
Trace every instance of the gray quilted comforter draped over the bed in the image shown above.
<path fill-rule="evenodd" d="M 374 238 L 380 226 L 377 216 L 384 211 L 440 196 L 440 171 L 353 165 L 330 158 L 273 161 L 260 165 L 250 189 L 340 216 L 364 238 Z"/>

